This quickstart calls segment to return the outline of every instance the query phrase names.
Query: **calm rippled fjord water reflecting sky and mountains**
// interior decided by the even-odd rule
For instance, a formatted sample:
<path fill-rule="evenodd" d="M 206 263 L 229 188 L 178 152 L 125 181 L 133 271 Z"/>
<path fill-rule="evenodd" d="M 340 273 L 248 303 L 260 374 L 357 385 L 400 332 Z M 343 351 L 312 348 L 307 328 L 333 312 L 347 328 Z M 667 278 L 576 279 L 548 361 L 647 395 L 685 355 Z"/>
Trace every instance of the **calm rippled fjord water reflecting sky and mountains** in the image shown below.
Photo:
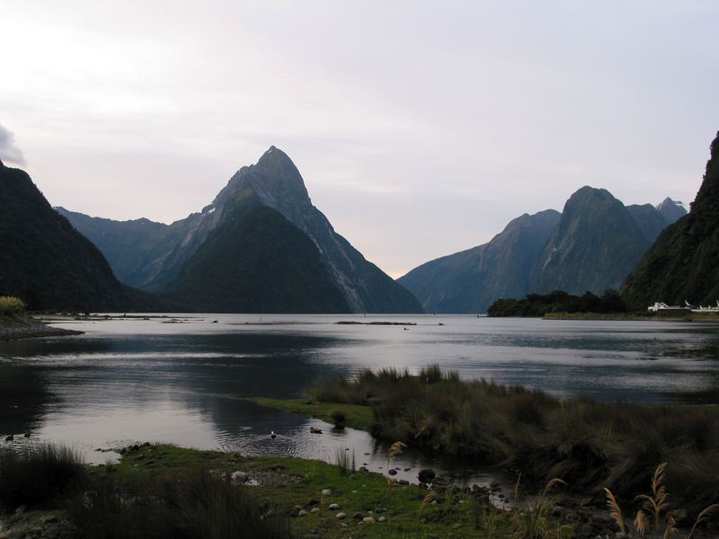
<path fill-rule="evenodd" d="M 58 324 L 84 335 L 0 343 L 0 434 L 31 429 L 32 438 L 76 444 L 95 462 L 106 455 L 93 448 L 135 441 L 329 461 L 336 448 L 351 447 L 358 465 L 379 469 L 386 453 L 365 433 L 333 432 L 319 420 L 243 398 L 299 397 L 322 378 L 363 367 L 417 371 L 439 364 L 466 379 L 523 384 L 568 399 L 719 402 L 719 325 L 713 323 L 460 315 L 174 320 L 92 317 Z M 309 433 L 311 425 L 324 434 Z M 271 430 L 276 439 L 268 437 Z M 419 458 L 404 455 L 398 464 L 422 464 Z"/>

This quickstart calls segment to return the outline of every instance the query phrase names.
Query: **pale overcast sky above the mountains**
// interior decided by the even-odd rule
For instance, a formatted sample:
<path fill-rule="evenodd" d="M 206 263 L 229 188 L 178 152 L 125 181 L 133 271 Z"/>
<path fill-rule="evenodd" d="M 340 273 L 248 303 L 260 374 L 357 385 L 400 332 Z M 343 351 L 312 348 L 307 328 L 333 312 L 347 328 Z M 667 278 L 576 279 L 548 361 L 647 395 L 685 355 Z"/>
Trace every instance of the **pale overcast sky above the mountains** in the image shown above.
<path fill-rule="evenodd" d="M 690 202 L 719 3 L 4 0 L 0 159 L 53 206 L 171 223 L 271 145 L 392 277 L 583 185 Z"/>

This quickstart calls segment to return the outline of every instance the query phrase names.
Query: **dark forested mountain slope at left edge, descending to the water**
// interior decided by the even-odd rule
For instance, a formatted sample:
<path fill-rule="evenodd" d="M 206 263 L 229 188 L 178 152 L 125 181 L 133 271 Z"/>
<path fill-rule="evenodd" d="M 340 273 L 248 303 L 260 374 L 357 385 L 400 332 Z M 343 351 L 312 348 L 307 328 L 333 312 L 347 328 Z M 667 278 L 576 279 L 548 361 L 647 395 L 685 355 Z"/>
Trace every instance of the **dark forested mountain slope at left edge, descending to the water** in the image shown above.
<path fill-rule="evenodd" d="M 2 162 L 0 246 L 0 296 L 20 296 L 31 309 L 152 304 L 120 284 L 102 252 L 50 207 L 26 172 Z"/>

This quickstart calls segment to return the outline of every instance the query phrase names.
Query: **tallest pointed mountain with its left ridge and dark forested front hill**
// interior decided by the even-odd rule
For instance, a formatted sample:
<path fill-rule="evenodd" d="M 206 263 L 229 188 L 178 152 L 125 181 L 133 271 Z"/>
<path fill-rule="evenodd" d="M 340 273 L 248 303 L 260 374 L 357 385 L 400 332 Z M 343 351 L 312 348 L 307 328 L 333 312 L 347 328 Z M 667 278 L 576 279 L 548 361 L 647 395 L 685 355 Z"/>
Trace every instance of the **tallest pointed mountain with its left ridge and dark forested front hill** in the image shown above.
<path fill-rule="evenodd" d="M 211 204 L 172 225 L 56 209 L 98 246 L 120 281 L 185 309 L 422 313 L 410 292 L 334 231 L 295 164 L 275 146 L 237 171 Z M 249 230 L 252 240 L 243 235 Z M 234 274 L 240 267 L 242 278 Z M 281 291 L 297 301 L 283 303 Z M 258 294 L 264 303 L 251 299 Z"/>

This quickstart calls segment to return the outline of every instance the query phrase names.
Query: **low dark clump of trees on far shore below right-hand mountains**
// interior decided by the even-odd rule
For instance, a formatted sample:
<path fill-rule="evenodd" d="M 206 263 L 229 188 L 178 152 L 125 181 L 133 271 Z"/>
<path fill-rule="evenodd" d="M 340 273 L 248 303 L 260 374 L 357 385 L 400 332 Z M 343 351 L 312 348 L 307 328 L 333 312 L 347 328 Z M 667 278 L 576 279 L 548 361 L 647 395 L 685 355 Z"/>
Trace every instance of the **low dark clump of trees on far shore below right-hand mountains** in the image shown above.
<path fill-rule="evenodd" d="M 626 313 L 626 303 L 616 290 L 603 296 L 585 292 L 573 296 L 562 290 L 550 294 L 528 294 L 524 299 L 498 299 L 487 309 L 487 316 L 546 316 L 553 313 Z"/>

